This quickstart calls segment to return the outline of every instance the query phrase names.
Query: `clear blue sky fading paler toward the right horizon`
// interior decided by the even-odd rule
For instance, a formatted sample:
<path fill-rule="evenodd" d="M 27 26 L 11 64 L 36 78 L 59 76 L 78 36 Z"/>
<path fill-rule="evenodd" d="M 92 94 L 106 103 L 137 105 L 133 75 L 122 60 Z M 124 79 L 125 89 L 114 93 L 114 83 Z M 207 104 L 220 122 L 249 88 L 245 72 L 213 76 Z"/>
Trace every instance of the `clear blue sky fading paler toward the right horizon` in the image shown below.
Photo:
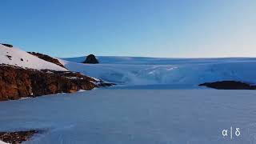
<path fill-rule="evenodd" d="M 6 0 L 0 42 L 57 57 L 256 57 L 255 0 Z"/>

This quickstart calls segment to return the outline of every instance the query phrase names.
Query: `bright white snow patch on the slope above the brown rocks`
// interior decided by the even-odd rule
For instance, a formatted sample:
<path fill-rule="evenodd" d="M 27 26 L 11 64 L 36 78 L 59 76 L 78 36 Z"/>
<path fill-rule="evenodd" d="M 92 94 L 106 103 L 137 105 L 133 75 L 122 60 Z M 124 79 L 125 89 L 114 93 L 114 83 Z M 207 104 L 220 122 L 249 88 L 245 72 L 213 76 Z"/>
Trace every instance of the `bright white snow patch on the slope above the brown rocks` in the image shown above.
<path fill-rule="evenodd" d="M 8 58 L 7 56 L 10 56 Z M 23 61 L 22 61 L 23 60 Z M 59 70 L 66 71 L 65 68 L 55 65 L 51 62 L 46 62 L 32 54 L 17 48 L 10 48 L 0 44 L 0 64 L 8 64 L 12 66 L 19 66 L 22 68 L 29 68 L 35 70 Z"/>

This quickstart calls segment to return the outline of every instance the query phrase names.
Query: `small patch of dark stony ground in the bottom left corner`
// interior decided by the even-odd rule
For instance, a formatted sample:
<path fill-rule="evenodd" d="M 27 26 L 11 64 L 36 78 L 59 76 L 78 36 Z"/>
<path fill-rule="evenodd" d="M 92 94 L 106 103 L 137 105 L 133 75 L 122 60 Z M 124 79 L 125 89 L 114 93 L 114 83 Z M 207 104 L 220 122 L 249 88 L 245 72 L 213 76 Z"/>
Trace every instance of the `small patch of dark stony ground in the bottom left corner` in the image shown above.
<path fill-rule="evenodd" d="M 34 134 L 38 133 L 38 130 L 0 132 L 0 140 L 2 140 L 2 142 L 18 144 L 29 140 Z"/>

